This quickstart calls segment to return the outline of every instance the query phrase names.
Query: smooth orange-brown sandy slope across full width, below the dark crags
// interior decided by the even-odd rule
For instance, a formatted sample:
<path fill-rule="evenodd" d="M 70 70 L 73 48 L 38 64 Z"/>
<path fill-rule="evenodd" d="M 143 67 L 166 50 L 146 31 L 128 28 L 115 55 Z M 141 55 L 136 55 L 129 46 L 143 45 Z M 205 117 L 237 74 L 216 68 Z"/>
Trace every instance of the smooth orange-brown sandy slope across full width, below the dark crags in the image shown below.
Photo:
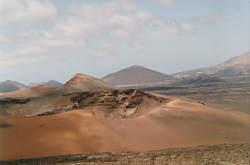
<path fill-rule="evenodd" d="M 86 111 L 0 117 L 0 159 L 245 143 L 248 131 L 248 114 L 182 99 L 135 119 L 97 118 Z"/>

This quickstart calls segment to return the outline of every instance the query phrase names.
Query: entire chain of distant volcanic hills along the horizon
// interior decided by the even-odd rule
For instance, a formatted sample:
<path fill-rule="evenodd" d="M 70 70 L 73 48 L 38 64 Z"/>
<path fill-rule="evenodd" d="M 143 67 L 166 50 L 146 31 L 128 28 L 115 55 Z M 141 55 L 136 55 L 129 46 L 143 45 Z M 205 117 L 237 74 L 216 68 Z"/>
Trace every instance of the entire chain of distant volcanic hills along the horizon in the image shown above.
<path fill-rule="evenodd" d="M 250 80 L 249 77 L 250 53 L 248 52 L 216 66 L 180 72 L 173 75 L 167 75 L 143 66 L 134 65 L 108 74 L 101 80 L 89 75 L 76 74 L 72 79 L 66 82 L 65 85 L 51 80 L 46 83 L 32 83 L 31 86 L 27 86 L 16 81 L 8 80 L 0 83 L 0 93 L 42 85 L 48 87 L 65 86 L 71 89 L 97 90 L 101 88 L 110 89 L 114 86 L 135 88 L 171 84 L 221 83 L 224 80 L 228 80 L 228 78 L 230 78 L 230 81 L 239 81 L 241 79 Z M 82 84 L 84 84 L 84 86 Z"/>

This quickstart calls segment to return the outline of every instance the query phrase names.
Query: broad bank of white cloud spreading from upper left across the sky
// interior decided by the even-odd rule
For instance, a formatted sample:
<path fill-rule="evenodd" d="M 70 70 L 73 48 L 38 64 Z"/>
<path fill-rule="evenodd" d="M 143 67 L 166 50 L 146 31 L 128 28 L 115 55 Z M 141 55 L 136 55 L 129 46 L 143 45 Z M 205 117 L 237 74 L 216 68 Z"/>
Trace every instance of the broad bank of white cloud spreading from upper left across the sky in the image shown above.
<path fill-rule="evenodd" d="M 0 43 L 5 45 L 0 52 L 0 66 L 44 60 L 50 58 L 55 49 L 77 50 L 86 57 L 119 54 L 118 50 L 124 43 L 136 45 L 138 42 L 165 39 L 212 20 L 204 17 L 178 23 L 138 8 L 133 0 L 91 4 L 83 1 L 66 7 L 59 15 L 59 9 L 52 2 L 0 0 L 0 26 L 4 25 L 2 29 L 11 32 L 4 34 L 0 27 Z M 164 6 L 175 3 L 174 0 L 154 2 Z M 29 28 L 19 28 L 24 24 L 30 24 Z M 47 26 L 37 28 L 43 24 Z M 54 56 L 68 54 L 62 51 Z"/>

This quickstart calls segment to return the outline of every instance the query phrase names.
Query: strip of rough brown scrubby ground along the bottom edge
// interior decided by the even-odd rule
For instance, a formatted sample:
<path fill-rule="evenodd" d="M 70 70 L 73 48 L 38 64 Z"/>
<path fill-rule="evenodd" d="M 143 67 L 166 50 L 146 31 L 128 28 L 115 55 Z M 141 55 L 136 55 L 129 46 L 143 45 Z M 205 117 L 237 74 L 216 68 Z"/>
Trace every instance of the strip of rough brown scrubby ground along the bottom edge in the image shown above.
<path fill-rule="evenodd" d="M 209 145 L 142 153 L 98 153 L 0 162 L 2 165 L 248 165 L 249 144 Z"/>

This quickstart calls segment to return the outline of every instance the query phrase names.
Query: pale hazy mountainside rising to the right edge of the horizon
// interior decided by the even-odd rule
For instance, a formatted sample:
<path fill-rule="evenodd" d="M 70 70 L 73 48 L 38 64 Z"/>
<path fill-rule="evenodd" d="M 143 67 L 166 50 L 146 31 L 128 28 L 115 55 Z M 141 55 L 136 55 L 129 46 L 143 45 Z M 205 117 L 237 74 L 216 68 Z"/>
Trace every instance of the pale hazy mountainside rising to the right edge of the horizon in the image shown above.
<path fill-rule="evenodd" d="M 231 58 L 222 64 L 208 68 L 195 69 L 177 73 L 175 77 L 194 77 L 201 74 L 213 75 L 217 77 L 232 77 L 239 75 L 250 76 L 250 52 Z"/>

